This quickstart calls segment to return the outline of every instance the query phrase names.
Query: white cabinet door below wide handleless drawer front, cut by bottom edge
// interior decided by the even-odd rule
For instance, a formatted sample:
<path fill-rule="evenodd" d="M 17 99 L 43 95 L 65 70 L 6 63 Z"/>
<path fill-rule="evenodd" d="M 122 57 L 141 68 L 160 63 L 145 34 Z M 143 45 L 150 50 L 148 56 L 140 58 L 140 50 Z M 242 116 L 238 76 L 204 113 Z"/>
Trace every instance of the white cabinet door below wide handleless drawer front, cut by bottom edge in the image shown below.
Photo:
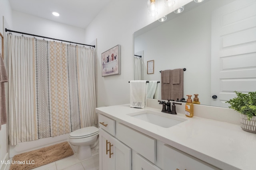
<path fill-rule="evenodd" d="M 152 164 L 151 162 L 140 156 L 140 154 L 138 153 L 135 154 L 134 160 L 135 170 L 161 170 L 156 165 Z"/>

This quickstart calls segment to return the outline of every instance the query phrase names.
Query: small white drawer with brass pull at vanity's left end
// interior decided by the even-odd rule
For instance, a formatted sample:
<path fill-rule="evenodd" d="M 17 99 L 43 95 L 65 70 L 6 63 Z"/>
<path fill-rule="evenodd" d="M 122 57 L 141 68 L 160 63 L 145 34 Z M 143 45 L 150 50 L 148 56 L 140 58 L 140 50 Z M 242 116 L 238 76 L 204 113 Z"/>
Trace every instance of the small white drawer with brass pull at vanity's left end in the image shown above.
<path fill-rule="evenodd" d="M 104 129 L 111 135 L 116 135 L 116 121 L 106 117 L 104 115 L 99 114 L 99 125 L 100 128 Z"/>

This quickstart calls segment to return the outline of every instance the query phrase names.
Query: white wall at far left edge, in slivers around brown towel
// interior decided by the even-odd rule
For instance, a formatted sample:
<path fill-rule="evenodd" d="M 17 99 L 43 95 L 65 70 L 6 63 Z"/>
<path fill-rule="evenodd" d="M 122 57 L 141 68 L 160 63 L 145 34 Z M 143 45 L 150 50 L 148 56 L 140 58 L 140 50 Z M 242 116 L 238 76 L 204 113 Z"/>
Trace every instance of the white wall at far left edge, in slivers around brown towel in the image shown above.
<path fill-rule="evenodd" d="M 11 10 L 8 0 L 0 0 L 0 32 L 2 35 L 4 35 L 3 16 L 5 18 L 5 22 L 7 22 L 8 25 L 11 25 L 12 24 L 12 10 Z M 5 83 L 5 86 L 7 86 L 7 83 Z M 0 160 L 5 160 L 6 158 L 8 158 L 7 134 L 8 133 L 7 133 L 7 129 L 6 129 L 6 124 L 2 125 L 2 129 L 0 131 Z M 6 164 L 0 164 L 0 169 L 3 169 L 5 166 L 6 166 Z"/>

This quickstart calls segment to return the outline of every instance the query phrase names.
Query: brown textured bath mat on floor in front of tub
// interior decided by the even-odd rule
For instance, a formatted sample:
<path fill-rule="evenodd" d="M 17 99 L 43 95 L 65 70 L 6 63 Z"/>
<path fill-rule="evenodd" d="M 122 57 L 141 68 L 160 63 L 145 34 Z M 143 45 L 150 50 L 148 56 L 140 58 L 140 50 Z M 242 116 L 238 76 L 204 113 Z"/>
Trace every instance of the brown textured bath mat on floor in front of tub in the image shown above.
<path fill-rule="evenodd" d="M 73 155 L 68 142 L 17 154 L 12 158 L 10 170 L 30 170 Z"/>

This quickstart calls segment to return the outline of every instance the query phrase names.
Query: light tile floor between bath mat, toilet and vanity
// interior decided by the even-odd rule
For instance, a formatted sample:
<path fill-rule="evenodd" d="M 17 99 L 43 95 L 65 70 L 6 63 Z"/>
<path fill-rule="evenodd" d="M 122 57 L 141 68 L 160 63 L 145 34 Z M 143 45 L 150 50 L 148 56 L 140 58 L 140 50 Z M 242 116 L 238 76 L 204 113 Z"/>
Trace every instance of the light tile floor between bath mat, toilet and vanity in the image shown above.
<path fill-rule="evenodd" d="M 93 156 L 86 160 L 78 160 L 76 149 L 72 147 L 75 151 L 74 155 L 67 158 L 57 160 L 50 164 L 34 168 L 33 170 L 99 170 L 99 154 L 98 150 L 92 152 Z M 10 158 L 12 160 L 12 158 Z M 6 170 L 10 168 L 7 166 Z"/>

